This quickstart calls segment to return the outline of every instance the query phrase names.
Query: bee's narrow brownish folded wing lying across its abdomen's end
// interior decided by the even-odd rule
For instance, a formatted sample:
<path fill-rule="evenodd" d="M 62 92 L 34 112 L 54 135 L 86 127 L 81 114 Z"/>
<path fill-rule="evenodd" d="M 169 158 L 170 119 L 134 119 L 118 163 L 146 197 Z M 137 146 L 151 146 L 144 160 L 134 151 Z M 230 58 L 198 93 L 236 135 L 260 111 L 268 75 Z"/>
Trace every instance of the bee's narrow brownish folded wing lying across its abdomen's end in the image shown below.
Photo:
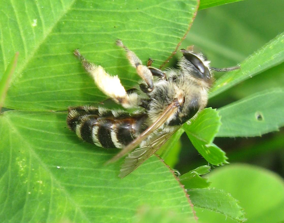
<path fill-rule="evenodd" d="M 112 159 L 108 160 L 106 164 L 115 162 L 120 157 L 124 156 L 125 154 L 129 153 L 133 149 L 135 149 L 144 139 L 146 139 L 151 133 L 153 133 L 156 129 L 161 127 L 166 120 L 176 113 L 178 110 L 178 100 L 174 100 L 168 107 L 164 110 L 164 112 L 158 117 L 158 119 L 150 125 L 143 133 L 141 133 L 136 139 L 134 139 L 131 143 L 129 143 L 124 149 L 122 149 L 118 154 L 116 154 Z"/>

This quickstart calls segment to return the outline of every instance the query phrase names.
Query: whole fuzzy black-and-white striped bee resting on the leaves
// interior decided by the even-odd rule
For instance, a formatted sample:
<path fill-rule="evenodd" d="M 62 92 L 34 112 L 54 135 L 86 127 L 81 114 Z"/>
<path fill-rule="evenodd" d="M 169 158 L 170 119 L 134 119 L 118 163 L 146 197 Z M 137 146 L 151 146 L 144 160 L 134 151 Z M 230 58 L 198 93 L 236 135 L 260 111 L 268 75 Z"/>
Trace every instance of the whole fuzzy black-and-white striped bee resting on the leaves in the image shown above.
<path fill-rule="evenodd" d="M 103 67 L 88 62 L 78 49 L 74 54 L 106 96 L 123 108 L 142 109 L 128 113 L 94 106 L 69 107 L 67 124 L 86 142 L 122 149 L 107 163 L 128 154 L 120 170 L 122 178 L 156 152 L 183 123 L 190 123 L 206 107 L 208 91 L 214 82 L 213 70 L 231 71 L 239 67 L 210 67 L 210 61 L 201 53 L 188 48 L 180 50 L 183 56 L 178 61 L 178 69 L 162 71 L 151 66 L 151 58 L 147 66 L 143 65 L 121 40 L 116 44 L 124 48 L 130 64 L 143 80 L 136 92 L 126 91 L 118 76 L 111 76 Z"/>

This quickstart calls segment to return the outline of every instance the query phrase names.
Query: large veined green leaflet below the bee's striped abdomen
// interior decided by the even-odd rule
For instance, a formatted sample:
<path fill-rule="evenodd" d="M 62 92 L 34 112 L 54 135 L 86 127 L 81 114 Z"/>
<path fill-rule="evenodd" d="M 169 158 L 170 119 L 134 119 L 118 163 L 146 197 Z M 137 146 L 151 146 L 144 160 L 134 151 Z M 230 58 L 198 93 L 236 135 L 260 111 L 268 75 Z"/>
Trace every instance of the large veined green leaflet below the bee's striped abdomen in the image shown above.
<path fill-rule="evenodd" d="M 118 177 L 117 150 L 85 143 L 66 128 L 66 113 L 6 111 L 0 115 L 1 222 L 132 222 L 137 208 L 193 218 L 184 189 L 152 156 Z"/>

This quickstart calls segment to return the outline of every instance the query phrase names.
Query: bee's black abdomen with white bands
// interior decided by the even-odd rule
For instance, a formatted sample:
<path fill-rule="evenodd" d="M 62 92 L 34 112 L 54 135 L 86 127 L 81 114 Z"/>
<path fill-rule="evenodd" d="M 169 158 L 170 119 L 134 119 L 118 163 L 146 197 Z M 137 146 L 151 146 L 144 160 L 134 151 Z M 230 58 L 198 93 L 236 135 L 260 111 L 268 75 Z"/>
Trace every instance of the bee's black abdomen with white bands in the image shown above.
<path fill-rule="evenodd" d="M 68 127 L 89 143 L 105 148 L 123 148 L 146 128 L 147 114 L 105 110 L 92 106 L 69 108 Z"/>

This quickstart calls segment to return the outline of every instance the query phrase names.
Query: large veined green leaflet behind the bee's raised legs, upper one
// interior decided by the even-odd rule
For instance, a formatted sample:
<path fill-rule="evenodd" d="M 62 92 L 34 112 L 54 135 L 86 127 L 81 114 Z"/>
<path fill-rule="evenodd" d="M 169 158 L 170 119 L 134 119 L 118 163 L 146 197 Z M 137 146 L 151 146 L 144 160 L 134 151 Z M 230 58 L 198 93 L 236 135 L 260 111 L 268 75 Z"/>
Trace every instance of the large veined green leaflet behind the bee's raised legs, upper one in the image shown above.
<path fill-rule="evenodd" d="M 66 110 L 106 99 L 73 55 L 74 49 L 91 62 L 118 75 L 126 88 L 139 80 L 126 59 L 124 44 L 146 63 L 159 67 L 176 51 L 189 29 L 196 0 L 168 1 L 12 1 L 0 14 L 3 63 L 14 51 L 22 58 L 5 101 L 6 108 Z M 6 16 L 6 15 L 9 16 Z M 173 15 L 174 19 L 173 19 Z"/>

